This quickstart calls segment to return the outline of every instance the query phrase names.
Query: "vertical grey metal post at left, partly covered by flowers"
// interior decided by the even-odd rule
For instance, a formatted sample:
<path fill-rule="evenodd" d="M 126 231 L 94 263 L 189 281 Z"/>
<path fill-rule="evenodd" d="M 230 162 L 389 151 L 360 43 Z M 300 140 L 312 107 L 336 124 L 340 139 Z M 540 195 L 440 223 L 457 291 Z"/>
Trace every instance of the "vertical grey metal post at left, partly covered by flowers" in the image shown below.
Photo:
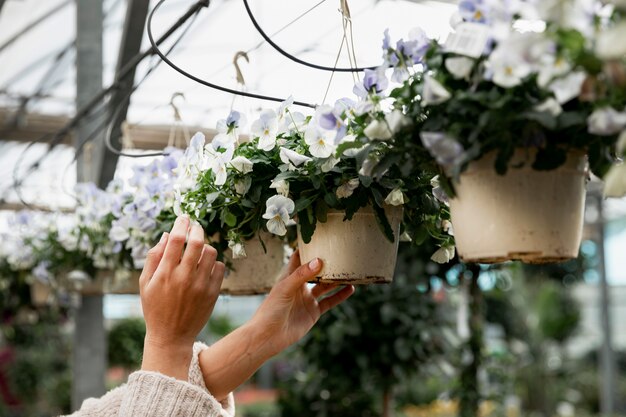
<path fill-rule="evenodd" d="M 102 2 L 76 2 L 76 108 L 83 107 L 102 91 Z M 97 117 L 82 119 L 78 123 L 75 146 L 80 146 L 99 123 L 101 119 Z M 96 181 L 100 173 L 104 156 L 102 135 L 89 145 L 77 160 L 79 182 Z M 80 307 L 75 311 L 74 322 L 72 409 L 77 410 L 85 399 L 101 397 L 106 392 L 107 346 L 103 297 L 83 296 Z"/>

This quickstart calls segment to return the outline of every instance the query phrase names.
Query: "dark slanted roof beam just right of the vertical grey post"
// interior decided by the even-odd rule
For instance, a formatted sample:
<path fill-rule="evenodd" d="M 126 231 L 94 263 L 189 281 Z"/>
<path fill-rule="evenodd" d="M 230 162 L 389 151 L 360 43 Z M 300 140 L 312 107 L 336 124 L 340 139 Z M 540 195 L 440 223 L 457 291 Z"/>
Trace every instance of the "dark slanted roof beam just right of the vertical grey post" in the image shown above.
<path fill-rule="evenodd" d="M 109 113 L 116 114 L 116 120 L 112 120 L 111 145 L 115 149 L 121 149 L 122 122 L 126 119 L 128 105 L 130 104 L 129 93 L 133 89 L 135 80 L 136 67 L 132 67 L 127 73 L 122 73 L 124 67 L 137 55 L 141 50 L 141 41 L 146 26 L 146 17 L 150 0 L 129 0 L 126 9 L 126 19 L 124 21 L 124 32 L 120 43 L 120 53 L 117 59 L 117 69 L 115 80 L 120 86 L 114 90 L 109 104 Z M 118 155 L 108 149 L 104 150 L 104 160 L 100 175 L 98 177 L 98 186 L 105 188 L 113 179 L 115 169 L 117 168 Z"/>

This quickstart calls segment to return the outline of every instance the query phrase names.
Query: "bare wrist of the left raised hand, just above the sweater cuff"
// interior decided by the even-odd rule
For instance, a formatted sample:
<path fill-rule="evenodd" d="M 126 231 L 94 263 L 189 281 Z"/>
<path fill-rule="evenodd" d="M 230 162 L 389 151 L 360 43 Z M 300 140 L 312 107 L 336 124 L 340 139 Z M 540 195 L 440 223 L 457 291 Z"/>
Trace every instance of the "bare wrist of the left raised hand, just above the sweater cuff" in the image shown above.
<path fill-rule="evenodd" d="M 193 342 L 168 343 L 146 335 L 141 370 L 187 381 L 192 355 Z"/>

